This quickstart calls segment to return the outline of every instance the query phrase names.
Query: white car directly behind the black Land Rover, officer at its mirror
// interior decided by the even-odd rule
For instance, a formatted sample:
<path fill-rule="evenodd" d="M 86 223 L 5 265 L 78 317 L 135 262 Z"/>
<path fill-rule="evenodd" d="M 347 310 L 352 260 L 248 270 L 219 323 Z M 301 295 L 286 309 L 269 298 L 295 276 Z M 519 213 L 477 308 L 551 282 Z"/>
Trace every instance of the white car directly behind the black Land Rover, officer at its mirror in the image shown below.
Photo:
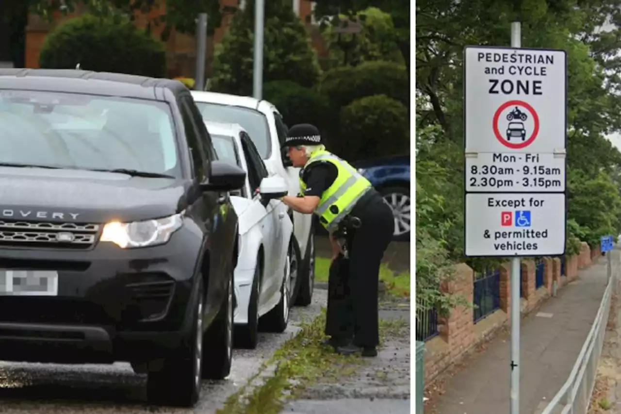
<path fill-rule="evenodd" d="M 286 195 L 288 185 L 279 175 L 268 175 L 241 126 L 205 125 L 218 159 L 247 173 L 242 190 L 230 193 L 239 223 L 238 260 L 233 273 L 237 301 L 233 344 L 254 349 L 259 323 L 262 329 L 283 332 L 289 321 L 299 250 L 292 238 L 289 208 L 278 200 Z"/>

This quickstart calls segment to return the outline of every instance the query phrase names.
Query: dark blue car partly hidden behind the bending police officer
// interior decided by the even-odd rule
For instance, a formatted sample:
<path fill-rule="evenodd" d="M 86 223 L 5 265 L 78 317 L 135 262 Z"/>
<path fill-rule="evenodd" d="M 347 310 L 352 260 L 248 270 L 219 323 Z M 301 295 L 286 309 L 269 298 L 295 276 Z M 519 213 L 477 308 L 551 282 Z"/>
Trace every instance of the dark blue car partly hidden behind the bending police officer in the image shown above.
<path fill-rule="evenodd" d="M 394 214 L 394 240 L 410 239 L 410 155 L 353 163 L 383 196 Z"/>

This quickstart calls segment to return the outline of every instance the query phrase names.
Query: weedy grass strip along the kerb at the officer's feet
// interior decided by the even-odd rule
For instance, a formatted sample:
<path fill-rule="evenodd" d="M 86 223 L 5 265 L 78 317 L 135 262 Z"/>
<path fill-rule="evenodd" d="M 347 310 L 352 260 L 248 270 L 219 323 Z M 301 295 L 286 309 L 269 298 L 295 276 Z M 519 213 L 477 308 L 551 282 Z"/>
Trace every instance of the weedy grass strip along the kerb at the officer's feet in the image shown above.
<path fill-rule="evenodd" d="M 365 364 L 365 359 L 359 356 L 341 356 L 322 346 L 324 326 L 325 309 L 313 321 L 302 323 L 301 331 L 286 341 L 242 389 L 230 395 L 224 408 L 216 414 L 279 414 L 287 400 L 299 395 L 317 379 L 335 382 Z M 381 321 L 380 342 L 387 336 L 402 334 L 406 326 L 404 320 Z M 266 375 L 270 367 L 275 367 L 274 372 Z M 250 390 L 262 375 L 265 379 L 261 385 Z"/>

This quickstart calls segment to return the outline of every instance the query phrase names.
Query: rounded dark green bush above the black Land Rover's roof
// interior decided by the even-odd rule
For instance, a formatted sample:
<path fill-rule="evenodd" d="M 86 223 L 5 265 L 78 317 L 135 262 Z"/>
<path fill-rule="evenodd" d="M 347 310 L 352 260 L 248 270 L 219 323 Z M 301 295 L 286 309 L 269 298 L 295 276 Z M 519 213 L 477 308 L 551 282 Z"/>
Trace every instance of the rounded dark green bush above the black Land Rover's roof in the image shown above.
<path fill-rule="evenodd" d="M 75 69 L 78 63 L 83 70 L 166 76 L 163 45 L 129 19 L 84 14 L 58 25 L 45 38 L 40 67 Z"/>

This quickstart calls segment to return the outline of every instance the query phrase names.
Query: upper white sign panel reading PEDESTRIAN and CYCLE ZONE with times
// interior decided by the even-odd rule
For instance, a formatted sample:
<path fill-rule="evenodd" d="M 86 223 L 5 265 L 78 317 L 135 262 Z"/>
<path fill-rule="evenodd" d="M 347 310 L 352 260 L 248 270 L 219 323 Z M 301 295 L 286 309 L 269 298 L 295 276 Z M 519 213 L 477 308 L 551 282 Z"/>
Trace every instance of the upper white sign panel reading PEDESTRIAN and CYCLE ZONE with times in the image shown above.
<path fill-rule="evenodd" d="M 566 53 L 465 48 L 466 192 L 563 192 Z"/>

